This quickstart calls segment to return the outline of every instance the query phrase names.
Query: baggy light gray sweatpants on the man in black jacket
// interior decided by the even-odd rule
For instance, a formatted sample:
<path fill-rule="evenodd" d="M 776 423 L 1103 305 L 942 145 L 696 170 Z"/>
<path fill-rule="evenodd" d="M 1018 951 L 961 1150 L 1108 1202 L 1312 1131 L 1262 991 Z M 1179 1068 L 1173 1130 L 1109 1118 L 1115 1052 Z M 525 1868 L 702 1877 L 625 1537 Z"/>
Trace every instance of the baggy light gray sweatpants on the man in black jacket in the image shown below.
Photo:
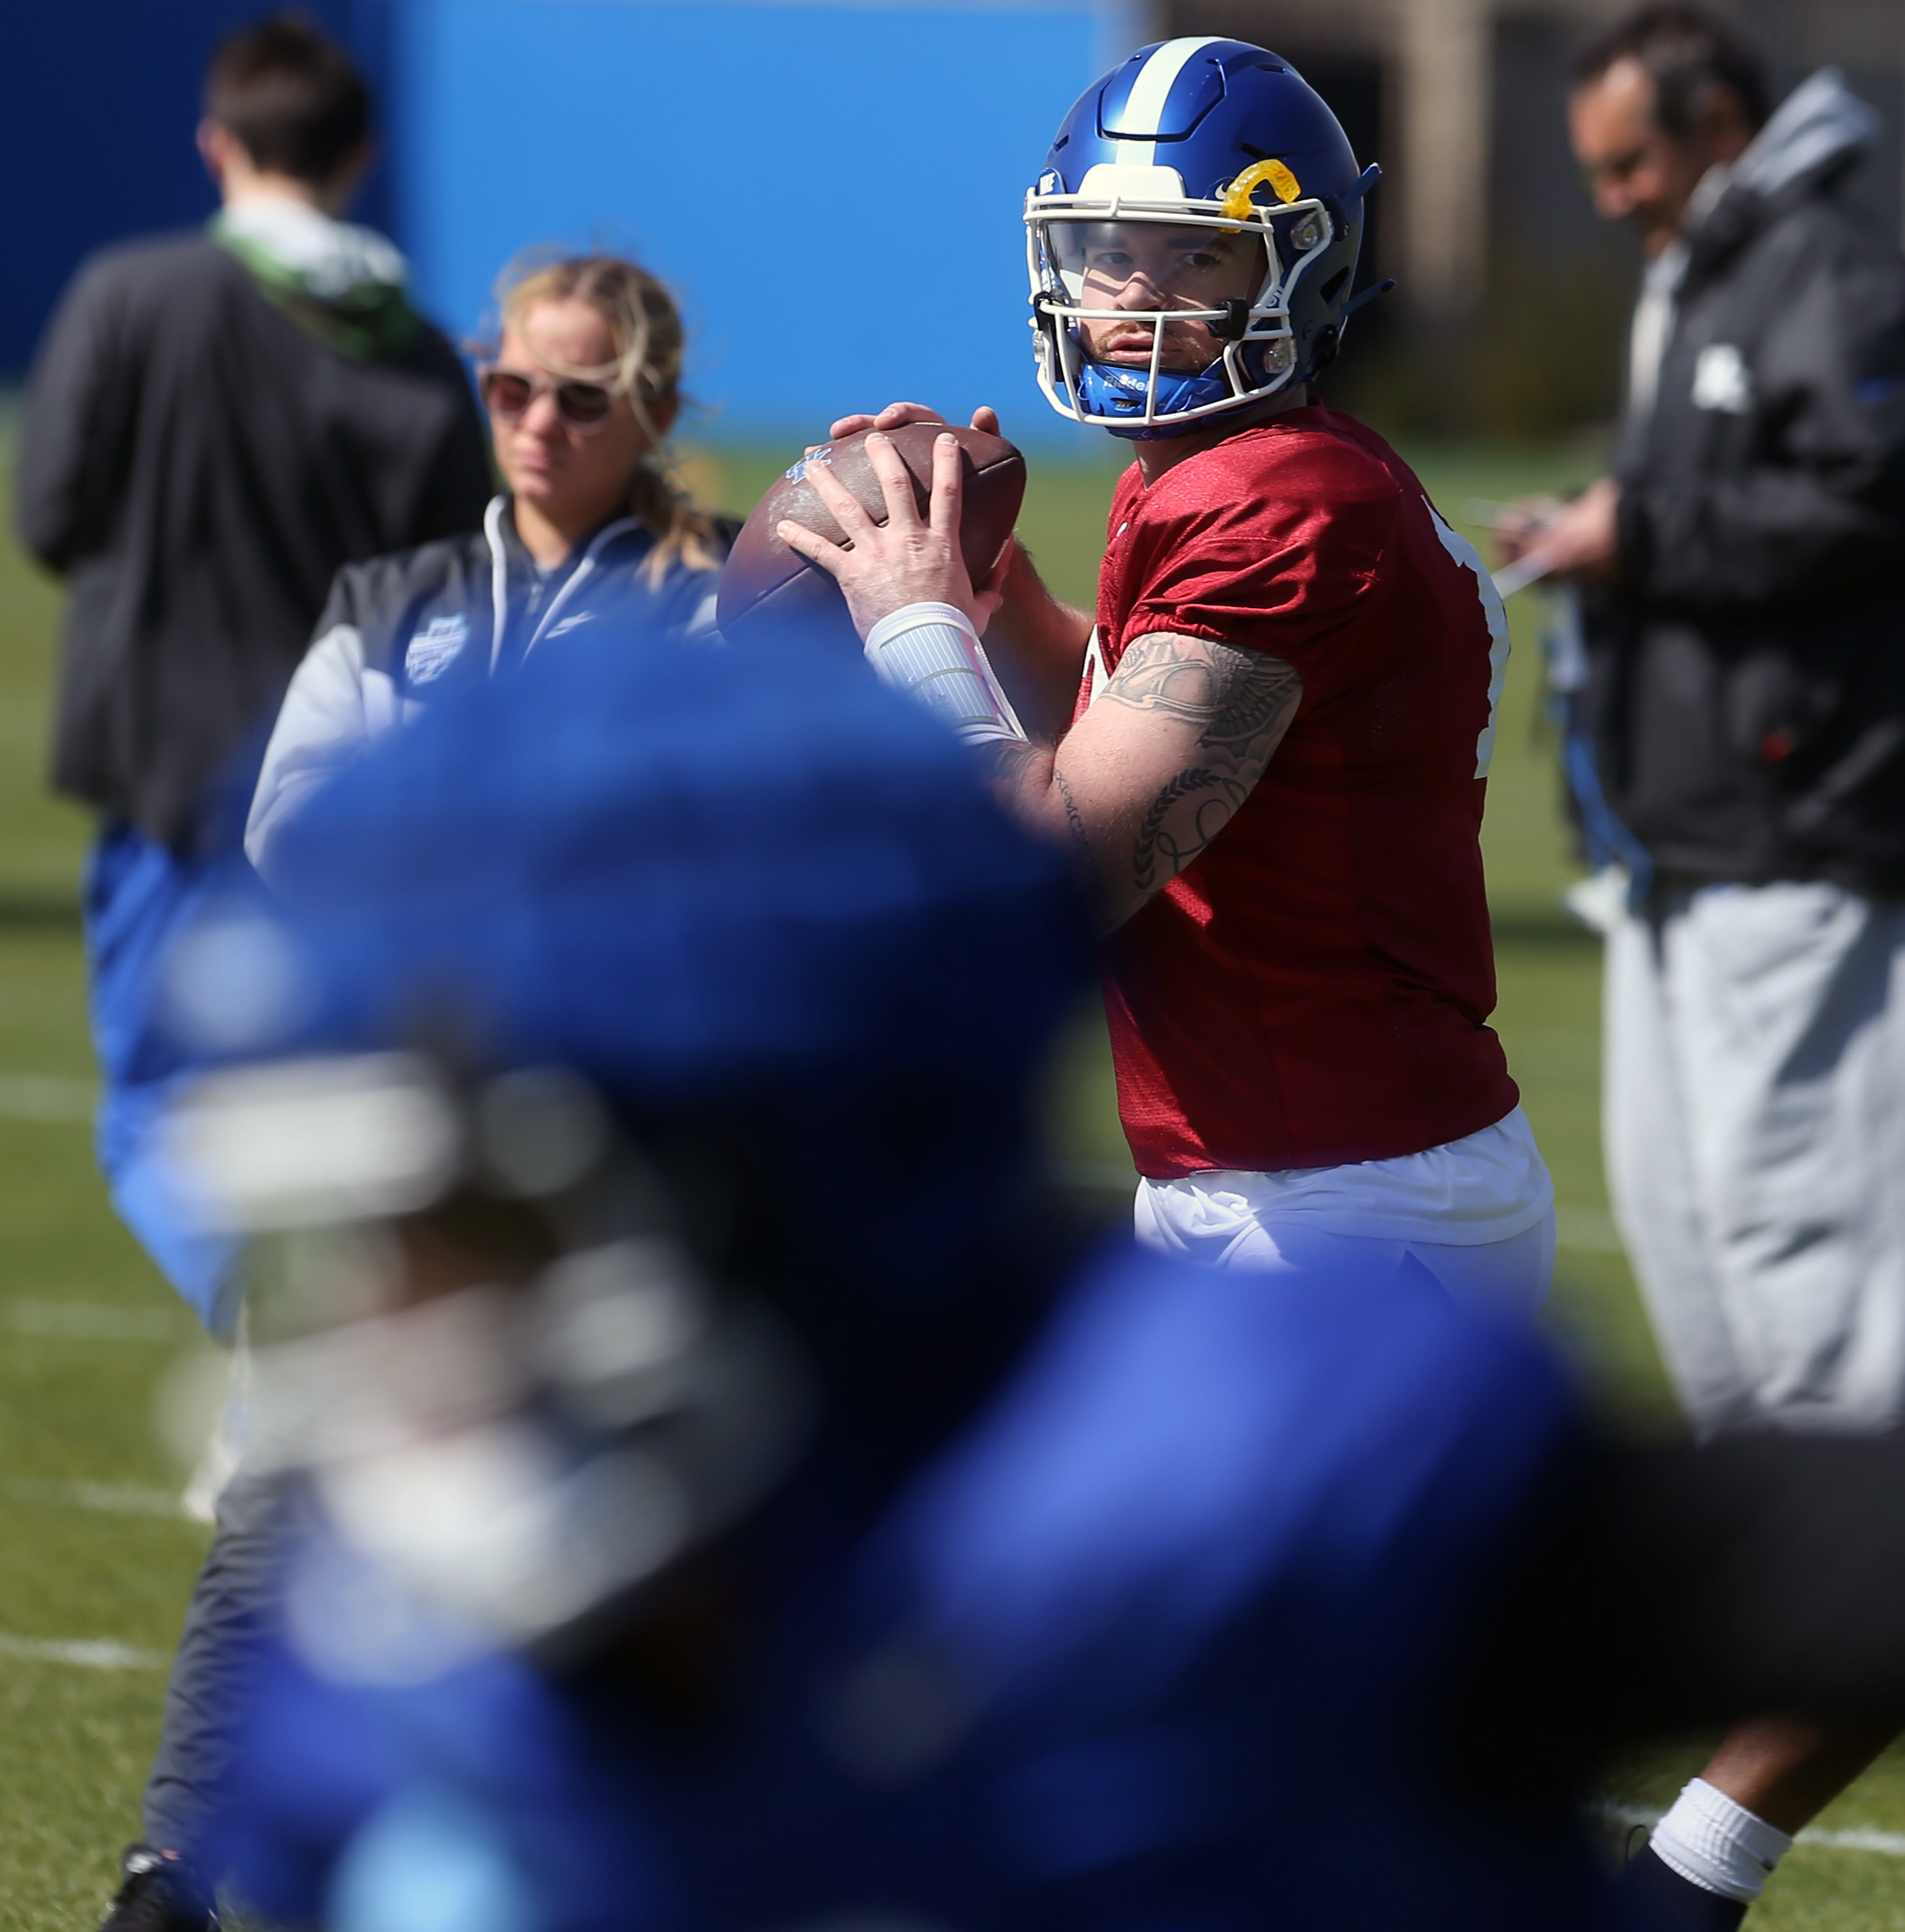
<path fill-rule="evenodd" d="M 1698 1430 L 1905 1420 L 1905 908 L 1656 893 L 1607 935 L 1607 1182 Z"/>

